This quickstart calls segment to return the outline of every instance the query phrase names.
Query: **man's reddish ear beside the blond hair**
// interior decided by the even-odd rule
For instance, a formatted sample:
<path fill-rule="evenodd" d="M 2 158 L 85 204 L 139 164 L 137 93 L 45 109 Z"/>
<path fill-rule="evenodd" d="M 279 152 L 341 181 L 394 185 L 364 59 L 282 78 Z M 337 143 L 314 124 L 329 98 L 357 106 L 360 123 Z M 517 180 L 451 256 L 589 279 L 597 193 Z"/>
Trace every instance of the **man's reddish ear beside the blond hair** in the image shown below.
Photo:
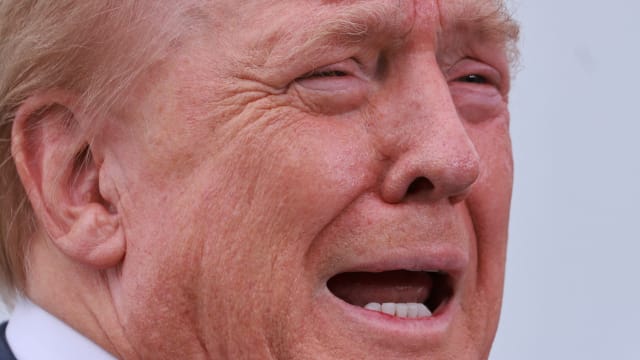
<path fill-rule="evenodd" d="M 68 92 L 33 95 L 16 112 L 11 151 L 43 232 L 72 261 L 105 269 L 122 261 L 126 246 L 100 191 L 100 155 L 87 131 L 96 120 Z"/>

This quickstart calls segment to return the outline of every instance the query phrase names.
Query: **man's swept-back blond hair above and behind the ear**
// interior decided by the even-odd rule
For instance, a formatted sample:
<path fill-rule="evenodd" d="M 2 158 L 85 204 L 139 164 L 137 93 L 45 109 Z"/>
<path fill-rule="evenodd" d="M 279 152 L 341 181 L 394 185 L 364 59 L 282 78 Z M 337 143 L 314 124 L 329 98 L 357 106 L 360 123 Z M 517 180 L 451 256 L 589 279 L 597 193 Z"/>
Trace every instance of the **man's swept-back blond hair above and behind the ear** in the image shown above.
<path fill-rule="evenodd" d="M 176 16 L 186 4 L 169 3 L 0 0 L 0 294 L 8 304 L 25 288 L 37 223 L 11 156 L 17 109 L 46 89 L 73 91 L 94 114 L 122 103 L 187 28 Z"/>

